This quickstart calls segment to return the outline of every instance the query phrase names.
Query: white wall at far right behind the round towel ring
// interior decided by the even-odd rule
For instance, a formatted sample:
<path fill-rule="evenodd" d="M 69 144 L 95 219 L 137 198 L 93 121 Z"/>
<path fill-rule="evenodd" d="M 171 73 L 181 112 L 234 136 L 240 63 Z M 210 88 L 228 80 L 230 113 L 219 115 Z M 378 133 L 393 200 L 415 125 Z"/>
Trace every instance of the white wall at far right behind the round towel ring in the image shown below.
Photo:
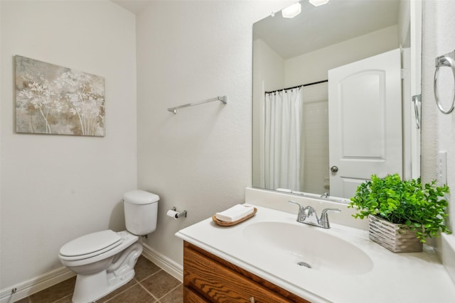
<path fill-rule="evenodd" d="M 422 36 L 422 180 L 437 179 L 437 153 L 447 153 L 447 184 L 452 194 L 449 199 L 449 227 L 455 228 L 455 114 L 444 115 L 434 103 L 434 60 L 455 49 L 455 1 L 423 1 Z M 445 69 L 445 71 L 444 71 Z M 454 79 L 447 70 L 441 69 L 440 94 L 444 106 L 449 106 L 454 94 Z M 447 72 L 447 73 L 446 73 Z M 455 235 L 444 236 L 439 251 L 444 251 L 443 260 L 455 282 Z M 452 243 L 449 249 L 448 243 Z"/>

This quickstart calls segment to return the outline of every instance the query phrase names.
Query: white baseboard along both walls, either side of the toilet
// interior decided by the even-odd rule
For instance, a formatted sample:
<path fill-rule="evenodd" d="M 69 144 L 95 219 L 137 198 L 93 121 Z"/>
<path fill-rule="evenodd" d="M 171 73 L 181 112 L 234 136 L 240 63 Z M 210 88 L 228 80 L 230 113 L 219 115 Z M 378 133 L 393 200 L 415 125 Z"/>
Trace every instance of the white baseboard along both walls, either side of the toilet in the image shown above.
<path fill-rule="evenodd" d="M 161 269 L 169 275 L 175 277 L 177 280 L 183 281 L 183 266 L 167 258 L 165 255 L 161 255 L 161 253 L 158 253 L 146 244 L 143 243 L 142 245 L 144 246 L 142 255 L 144 255 L 145 258 L 151 260 L 151 262 L 158 265 Z M 44 275 L 40 275 L 33 279 L 8 287 L 4 290 L 0 290 L 0 303 L 16 302 L 74 276 L 75 273 L 64 266 L 56 270 L 52 270 Z M 15 292 L 13 291 L 14 289 Z"/>

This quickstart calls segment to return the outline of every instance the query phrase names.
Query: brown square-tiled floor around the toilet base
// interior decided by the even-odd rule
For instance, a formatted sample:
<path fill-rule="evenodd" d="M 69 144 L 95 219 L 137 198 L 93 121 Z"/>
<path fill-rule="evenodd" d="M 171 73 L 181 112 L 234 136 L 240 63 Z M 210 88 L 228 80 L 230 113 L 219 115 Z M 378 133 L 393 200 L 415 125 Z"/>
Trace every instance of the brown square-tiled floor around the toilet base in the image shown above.
<path fill-rule="evenodd" d="M 183 303 L 183 285 L 151 261 L 139 257 L 134 279 L 97 303 Z M 60 282 L 18 303 L 71 303 L 76 277 Z"/>

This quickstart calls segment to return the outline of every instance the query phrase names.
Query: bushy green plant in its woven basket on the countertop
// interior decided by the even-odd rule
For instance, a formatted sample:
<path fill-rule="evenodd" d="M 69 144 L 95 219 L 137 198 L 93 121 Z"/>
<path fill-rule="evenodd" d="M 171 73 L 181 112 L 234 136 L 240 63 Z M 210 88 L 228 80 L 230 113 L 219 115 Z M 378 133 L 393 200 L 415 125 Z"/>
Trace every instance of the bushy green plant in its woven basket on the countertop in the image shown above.
<path fill-rule="evenodd" d="M 368 217 L 371 240 L 396 253 L 422 251 L 427 237 L 451 233 L 444 224 L 447 193 L 449 187 L 438 187 L 436 181 L 372 175 L 357 187 L 348 207 L 357 209 L 354 218 Z"/>

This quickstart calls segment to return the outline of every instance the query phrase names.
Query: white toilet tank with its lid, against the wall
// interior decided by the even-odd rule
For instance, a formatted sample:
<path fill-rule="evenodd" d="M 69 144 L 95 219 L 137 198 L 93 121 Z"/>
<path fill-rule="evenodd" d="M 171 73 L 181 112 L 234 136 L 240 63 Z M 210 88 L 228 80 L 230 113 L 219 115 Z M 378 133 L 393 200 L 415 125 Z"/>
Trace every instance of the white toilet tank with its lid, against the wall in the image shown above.
<path fill-rule="evenodd" d="M 158 216 L 158 194 L 133 190 L 123 195 L 127 231 L 143 236 L 155 231 Z"/>

